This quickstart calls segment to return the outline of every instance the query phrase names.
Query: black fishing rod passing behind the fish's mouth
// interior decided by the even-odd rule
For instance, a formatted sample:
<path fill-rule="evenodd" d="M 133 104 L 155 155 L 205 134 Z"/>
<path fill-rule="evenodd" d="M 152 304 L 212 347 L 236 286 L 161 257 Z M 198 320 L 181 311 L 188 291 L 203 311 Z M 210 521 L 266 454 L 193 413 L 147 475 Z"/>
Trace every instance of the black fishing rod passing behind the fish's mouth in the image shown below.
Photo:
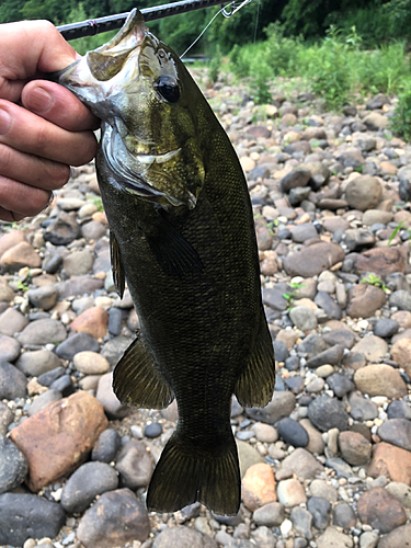
<path fill-rule="evenodd" d="M 169 18 L 170 15 L 203 10 L 222 3 L 225 3 L 222 0 L 181 0 L 180 2 L 144 8 L 140 11 L 146 21 L 156 21 L 158 19 Z M 233 2 L 231 2 L 231 4 L 233 4 Z M 232 9 L 231 12 L 226 13 L 226 16 L 231 14 Z M 57 30 L 67 41 L 82 38 L 83 36 L 94 36 L 95 34 L 121 28 L 127 15 L 128 13 L 118 13 L 116 15 L 107 15 L 106 18 L 90 19 L 88 21 L 81 21 L 80 23 L 57 26 Z"/>

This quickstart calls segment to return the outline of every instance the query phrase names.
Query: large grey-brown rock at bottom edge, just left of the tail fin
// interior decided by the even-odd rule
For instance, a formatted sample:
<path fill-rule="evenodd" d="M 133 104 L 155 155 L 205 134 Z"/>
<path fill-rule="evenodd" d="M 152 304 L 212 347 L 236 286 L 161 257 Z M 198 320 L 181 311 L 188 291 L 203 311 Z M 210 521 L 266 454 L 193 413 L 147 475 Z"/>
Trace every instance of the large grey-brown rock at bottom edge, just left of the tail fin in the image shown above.
<path fill-rule="evenodd" d="M 77 538 L 85 548 L 113 548 L 134 540 L 145 541 L 150 533 L 148 513 L 129 489 L 102 494 L 82 516 Z"/>

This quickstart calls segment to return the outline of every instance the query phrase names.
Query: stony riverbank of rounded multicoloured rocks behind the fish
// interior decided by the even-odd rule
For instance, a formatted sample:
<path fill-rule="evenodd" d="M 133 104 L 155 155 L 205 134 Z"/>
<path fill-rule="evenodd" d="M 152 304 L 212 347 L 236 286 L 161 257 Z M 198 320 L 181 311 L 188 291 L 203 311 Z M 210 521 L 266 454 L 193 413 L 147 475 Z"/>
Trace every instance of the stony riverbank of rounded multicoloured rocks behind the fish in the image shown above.
<path fill-rule="evenodd" d="M 236 517 L 148 514 L 176 410 L 129 410 L 111 370 L 138 319 L 119 300 L 92 165 L 0 238 L 0 545 L 402 548 L 411 539 L 411 146 L 395 100 L 342 115 L 308 93 L 205 91 L 255 213 L 277 384 L 232 407 Z"/>

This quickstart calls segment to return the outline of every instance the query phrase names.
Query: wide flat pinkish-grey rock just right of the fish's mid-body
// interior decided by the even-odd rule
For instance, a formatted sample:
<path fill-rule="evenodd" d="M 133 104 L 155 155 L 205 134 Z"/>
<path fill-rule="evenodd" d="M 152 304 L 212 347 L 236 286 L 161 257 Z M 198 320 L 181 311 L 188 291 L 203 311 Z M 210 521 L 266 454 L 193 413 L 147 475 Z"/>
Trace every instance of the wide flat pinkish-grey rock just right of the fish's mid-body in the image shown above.
<path fill-rule="evenodd" d="M 344 251 L 336 243 L 313 243 L 284 258 L 283 266 L 289 276 L 311 277 L 344 261 Z"/>

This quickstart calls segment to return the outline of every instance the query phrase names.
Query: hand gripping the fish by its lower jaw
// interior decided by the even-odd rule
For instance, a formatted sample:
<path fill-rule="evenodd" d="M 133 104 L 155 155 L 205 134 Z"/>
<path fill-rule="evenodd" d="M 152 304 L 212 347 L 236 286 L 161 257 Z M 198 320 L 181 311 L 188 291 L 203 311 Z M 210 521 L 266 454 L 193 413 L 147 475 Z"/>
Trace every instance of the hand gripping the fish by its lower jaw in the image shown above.
<path fill-rule="evenodd" d="M 99 121 L 67 89 L 39 80 L 78 58 L 47 21 L 0 25 L 0 219 L 44 209 L 70 165 L 92 160 Z"/>

